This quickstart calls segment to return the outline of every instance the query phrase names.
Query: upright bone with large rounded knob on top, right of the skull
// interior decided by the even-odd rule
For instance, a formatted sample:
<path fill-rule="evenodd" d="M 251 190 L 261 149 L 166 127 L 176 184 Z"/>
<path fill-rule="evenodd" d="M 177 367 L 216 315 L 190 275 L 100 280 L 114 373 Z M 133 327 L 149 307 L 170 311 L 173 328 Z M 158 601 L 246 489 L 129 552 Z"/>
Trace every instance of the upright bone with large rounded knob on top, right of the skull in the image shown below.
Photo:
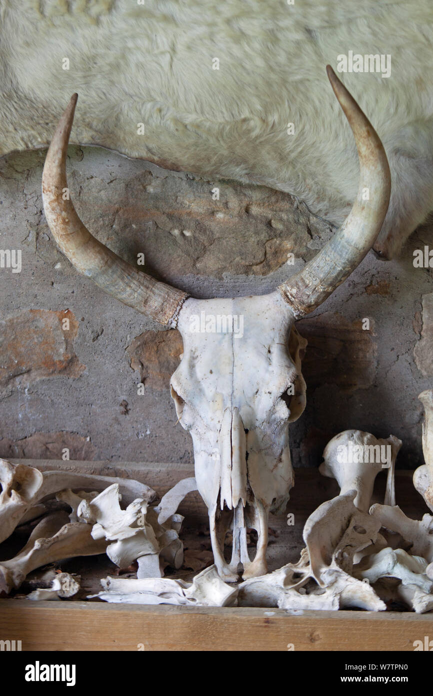
<path fill-rule="evenodd" d="M 387 439 L 377 439 L 361 430 L 345 430 L 327 443 L 323 452 L 325 461 L 320 464 L 319 471 L 337 480 L 341 495 L 356 490 L 354 504 L 366 512 L 370 507 L 375 477 L 384 468 L 389 470 L 386 501 L 394 500 L 393 473 L 401 445 L 401 440 L 393 435 Z M 384 450 L 388 447 L 390 457 L 386 456 L 387 450 Z"/>

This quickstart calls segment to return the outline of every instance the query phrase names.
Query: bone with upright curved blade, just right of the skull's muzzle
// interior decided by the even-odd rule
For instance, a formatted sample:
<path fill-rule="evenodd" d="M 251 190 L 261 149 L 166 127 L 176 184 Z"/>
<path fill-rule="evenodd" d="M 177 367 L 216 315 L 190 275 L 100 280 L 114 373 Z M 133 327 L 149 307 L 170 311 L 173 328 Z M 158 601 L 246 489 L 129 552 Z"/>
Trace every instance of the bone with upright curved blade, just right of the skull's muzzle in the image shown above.
<path fill-rule="evenodd" d="M 240 605 L 384 610 L 373 587 L 350 576 L 355 554 L 375 544 L 380 528 L 354 506 L 356 494 L 348 491 L 322 503 L 304 525 L 307 548 L 300 562 L 246 580 L 239 586 Z"/>

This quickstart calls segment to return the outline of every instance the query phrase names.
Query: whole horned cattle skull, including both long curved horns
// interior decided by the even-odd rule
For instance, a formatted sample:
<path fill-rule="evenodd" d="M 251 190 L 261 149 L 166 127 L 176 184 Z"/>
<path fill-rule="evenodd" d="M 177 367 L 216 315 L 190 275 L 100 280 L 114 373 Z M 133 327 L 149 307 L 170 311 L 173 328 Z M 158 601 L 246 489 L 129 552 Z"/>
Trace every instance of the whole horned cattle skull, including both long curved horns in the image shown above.
<path fill-rule="evenodd" d="M 138 271 L 92 237 L 63 196 L 76 95 L 60 119 L 42 175 L 47 222 L 76 269 L 120 301 L 181 332 L 183 358 L 172 377 L 172 396 L 181 424 L 193 436 L 197 487 L 209 509 L 215 563 L 226 580 L 265 573 L 268 512 L 286 503 L 293 485 L 288 423 L 304 407 L 300 359 L 305 347 L 293 324 L 363 260 L 389 204 L 389 166 L 379 136 L 332 68 L 327 71 L 357 144 L 357 199 L 316 257 L 268 295 L 193 299 Z M 220 333 L 197 331 L 197 317 L 209 315 L 242 317 L 243 335 L 231 326 Z M 259 535 L 253 561 L 247 553 L 248 527 Z M 228 528 L 230 562 L 223 555 Z"/>

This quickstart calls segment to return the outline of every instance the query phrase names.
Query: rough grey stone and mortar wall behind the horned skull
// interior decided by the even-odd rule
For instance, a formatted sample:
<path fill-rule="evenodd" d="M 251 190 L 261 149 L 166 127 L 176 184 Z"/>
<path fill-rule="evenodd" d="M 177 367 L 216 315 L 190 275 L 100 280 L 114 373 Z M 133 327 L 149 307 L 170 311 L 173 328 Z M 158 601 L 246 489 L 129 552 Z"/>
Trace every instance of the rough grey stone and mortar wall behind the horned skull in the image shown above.
<path fill-rule="evenodd" d="M 100 148 L 69 154 L 72 199 L 90 230 L 133 263 L 144 253 L 145 270 L 197 297 L 269 292 L 334 231 L 284 193 Z M 0 269 L 0 456 L 58 459 L 67 448 L 71 459 L 193 461 L 169 391 L 180 335 L 103 294 L 60 254 L 42 211 L 44 155 L 0 159 L 0 249 L 22 250 L 20 273 Z M 400 466 L 422 463 L 417 396 L 432 386 L 433 277 L 414 267 L 413 251 L 426 244 L 432 226 L 398 260 L 370 252 L 298 322 L 309 347 L 295 466 L 317 466 L 329 438 L 353 427 L 397 435 Z"/>

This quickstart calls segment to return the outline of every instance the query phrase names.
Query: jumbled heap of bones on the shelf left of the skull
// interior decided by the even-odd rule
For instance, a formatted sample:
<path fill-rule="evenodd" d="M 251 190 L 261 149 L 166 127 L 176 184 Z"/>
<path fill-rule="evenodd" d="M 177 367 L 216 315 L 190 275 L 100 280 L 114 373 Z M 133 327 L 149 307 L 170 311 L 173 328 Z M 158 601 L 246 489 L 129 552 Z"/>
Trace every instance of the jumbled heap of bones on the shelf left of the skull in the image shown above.
<path fill-rule="evenodd" d="M 22 550 L 0 563 L 0 592 L 17 590 L 37 568 L 76 556 L 107 553 L 121 568 L 138 560 L 138 578 L 161 577 L 168 564 L 175 569 L 182 565 L 179 530 L 183 516 L 176 509 L 195 489 L 193 479 L 179 482 L 157 507 L 149 505 L 156 493 L 134 480 L 63 471 L 41 473 L 4 459 L 0 460 L 0 482 L 1 540 L 17 526 L 41 518 Z M 69 514 L 58 507 L 67 507 Z M 56 592 L 56 587 L 40 589 Z M 42 594 L 47 593 L 38 596 Z"/>

